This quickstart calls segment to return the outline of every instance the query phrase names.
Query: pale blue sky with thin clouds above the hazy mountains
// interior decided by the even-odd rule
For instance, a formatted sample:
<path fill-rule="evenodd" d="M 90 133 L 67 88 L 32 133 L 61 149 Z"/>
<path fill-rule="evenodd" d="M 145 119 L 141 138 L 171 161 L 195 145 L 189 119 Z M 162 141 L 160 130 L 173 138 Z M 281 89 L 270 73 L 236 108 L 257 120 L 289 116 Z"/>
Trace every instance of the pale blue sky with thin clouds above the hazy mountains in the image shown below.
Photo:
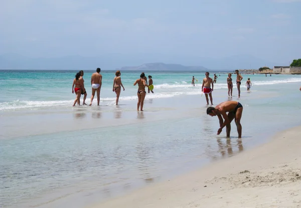
<path fill-rule="evenodd" d="M 301 58 L 301 0 L 0 2 L 0 54 Z"/>

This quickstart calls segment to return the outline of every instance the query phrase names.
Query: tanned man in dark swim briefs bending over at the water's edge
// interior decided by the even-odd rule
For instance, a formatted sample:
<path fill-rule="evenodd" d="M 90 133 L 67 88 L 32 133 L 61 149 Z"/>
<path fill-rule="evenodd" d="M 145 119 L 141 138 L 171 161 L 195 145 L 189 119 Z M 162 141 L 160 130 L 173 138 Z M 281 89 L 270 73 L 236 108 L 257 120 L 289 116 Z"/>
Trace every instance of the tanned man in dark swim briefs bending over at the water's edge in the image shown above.
<path fill-rule="evenodd" d="M 242 115 L 243 107 L 237 101 L 226 101 L 218 104 L 215 108 L 209 107 L 207 108 L 207 115 L 217 116 L 220 123 L 220 128 L 217 131 L 217 135 L 219 135 L 223 128 L 226 126 L 227 137 L 230 137 L 231 131 L 231 122 L 235 119 L 235 124 L 237 127 L 238 138 L 241 138 L 241 124 L 240 119 Z M 228 112 L 228 114 L 227 114 Z M 224 118 L 224 120 L 223 120 Z"/>

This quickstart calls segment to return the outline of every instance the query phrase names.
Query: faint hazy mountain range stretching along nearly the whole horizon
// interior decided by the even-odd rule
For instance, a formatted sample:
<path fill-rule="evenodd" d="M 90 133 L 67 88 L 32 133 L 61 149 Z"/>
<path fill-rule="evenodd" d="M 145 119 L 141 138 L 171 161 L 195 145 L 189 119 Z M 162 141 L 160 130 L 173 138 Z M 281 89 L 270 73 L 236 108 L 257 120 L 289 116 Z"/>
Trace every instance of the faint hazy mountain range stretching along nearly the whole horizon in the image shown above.
<path fill-rule="evenodd" d="M 141 65 L 143 63 L 154 64 Z M 18 54 L 0 55 L 0 69 L 95 70 L 97 67 L 100 67 L 103 70 L 114 70 L 116 68 L 141 70 L 140 68 L 147 66 L 148 70 L 206 70 L 206 68 L 210 70 L 234 70 L 258 69 L 262 66 L 272 68 L 283 64 L 282 62 L 269 62 L 251 55 L 225 58 L 169 54 L 105 54 L 99 57 L 66 56 L 58 58 L 28 58 Z M 183 65 L 198 67 L 184 67 Z M 284 65 L 287 65 L 287 63 Z"/>

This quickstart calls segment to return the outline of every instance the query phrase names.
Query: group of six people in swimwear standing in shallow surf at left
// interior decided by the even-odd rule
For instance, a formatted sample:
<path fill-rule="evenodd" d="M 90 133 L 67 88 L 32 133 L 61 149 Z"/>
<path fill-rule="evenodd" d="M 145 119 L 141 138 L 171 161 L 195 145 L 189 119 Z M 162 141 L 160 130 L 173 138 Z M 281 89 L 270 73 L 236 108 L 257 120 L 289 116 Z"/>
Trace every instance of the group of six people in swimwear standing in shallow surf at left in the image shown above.
<path fill-rule="evenodd" d="M 87 98 L 87 92 L 85 89 L 84 85 L 84 71 L 79 71 L 75 75 L 75 79 L 73 80 L 73 85 L 72 85 L 72 93 L 76 94 L 76 98 L 74 100 L 73 106 L 76 104 L 80 105 L 80 97 L 81 95 L 84 95 L 84 100 L 83 100 L 83 105 L 87 105 L 85 103 L 86 98 Z M 119 101 L 119 96 L 121 92 L 121 87 L 123 88 L 123 91 L 125 90 L 122 82 L 121 82 L 121 73 L 120 71 L 116 71 L 115 77 L 113 80 L 113 92 L 116 93 L 116 105 L 118 105 Z M 92 105 L 95 92 L 97 95 L 97 105 L 99 105 L 100 102 L 100 89 L 101 89 L 101 84 L 102 84 L 102 75 L 100 74 L 100 68 L 96 69 L 96 72 L 92 74 L 91 76 L 91 87 L 92 87 L 92 95 L 91 95 L 91 101 L 89 106 Z M 144 98 L 146 95 L 145 87 L 148 89 L 148 93 L 152 92 L 154 93 L 153 89 L 149 89 L 150 85 L 153 85 L 153 79 L 152 76 L 148 75 L 148 85 L 147 85 L 147 79 L 145 77 L 144 72 L 141 73 L 140 78 L 137 79 L 134 82 L 134 86 L 138 84 L 138 91 L 137 91 L 137 97 L 138 97 L 138 102 L 137 102 L 137 110 L 140 109 L 140 111 L 143 111 L 143 103 L 144 103 Z"/>

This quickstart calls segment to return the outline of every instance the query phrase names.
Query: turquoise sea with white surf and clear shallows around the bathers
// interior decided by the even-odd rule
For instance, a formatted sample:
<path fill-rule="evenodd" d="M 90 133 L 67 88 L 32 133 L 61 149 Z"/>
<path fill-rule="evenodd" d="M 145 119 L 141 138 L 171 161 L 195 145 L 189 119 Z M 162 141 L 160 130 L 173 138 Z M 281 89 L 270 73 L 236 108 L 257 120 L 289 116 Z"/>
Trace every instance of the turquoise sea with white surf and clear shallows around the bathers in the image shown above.
<path fill-rule="evenodd" d="M 0 207 L 87 207 L 233 156 L 301 124 L 300 75 L 242 74 L 238 98 L 235 85 L 228 97 L 228 72 L 210 71 L 210 77 L 220 75 L 213 103 L 237 100 L 244 107 L 242 139 L 234 123 L 227 139 L 225 130 L 216 135 L 218 119 L 206 115 L 205 72 L 145 71 L 155 93 L 146 95 L 144 112 L 136 111 L 133 86 L 140 72 L 121 71 L 125 91 L 116 106 L 115 72 L 101 71 L 101 105 L 94 100 L 91 107 L 72 107 L 76 71 L 1 72 Z M 84 74 L 87 103 L 93 72 Z"/>

